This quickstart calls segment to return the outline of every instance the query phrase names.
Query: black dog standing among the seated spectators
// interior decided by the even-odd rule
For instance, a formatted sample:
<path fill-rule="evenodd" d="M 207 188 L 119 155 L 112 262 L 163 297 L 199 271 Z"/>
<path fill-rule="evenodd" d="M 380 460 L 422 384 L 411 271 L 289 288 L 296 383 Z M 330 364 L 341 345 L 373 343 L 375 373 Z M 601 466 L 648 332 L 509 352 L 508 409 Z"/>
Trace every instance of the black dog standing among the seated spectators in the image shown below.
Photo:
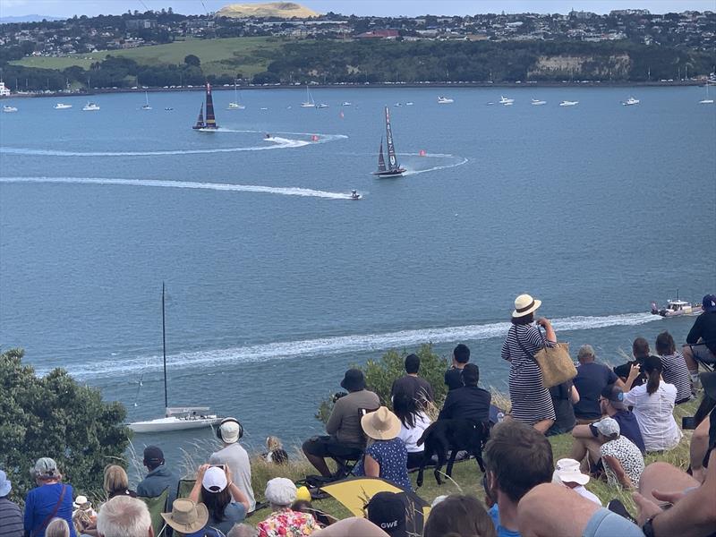
<path fill-rule="evenodd" d="M 420 470 L 418 471 L 417 484 L 422 487 L 422 471 L 425 465 L 430 463 L 433 455 L 438 456 L 438 465 L 435 467 L 435 481 L 439 485 L 440 470 L 447 460 L 447 450 L 450 450 L 450 458 L 447 461 L 447 475 L 452 476 L 453 465 L 458 451 L 465 450 L 477 459 L 482 473 L 485 472 L 485 465 L 482 461 L 482 447 L 490 435 L 490 428 L 487 423 L 475 423 L 470 420 L 438 420 L 428 427 L 422 437 L 417 441 L 418 446 L 425 444 Z"/>

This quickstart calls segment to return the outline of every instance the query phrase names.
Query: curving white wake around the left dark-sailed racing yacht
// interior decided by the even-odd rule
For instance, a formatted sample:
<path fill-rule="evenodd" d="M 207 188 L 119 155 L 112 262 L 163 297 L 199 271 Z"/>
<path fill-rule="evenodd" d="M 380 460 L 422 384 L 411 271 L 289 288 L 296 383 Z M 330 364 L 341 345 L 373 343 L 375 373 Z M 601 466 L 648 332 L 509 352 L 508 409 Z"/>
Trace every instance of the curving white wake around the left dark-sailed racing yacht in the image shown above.
<path fill-rule="evenodd" d="M 217 132 L 260 132 L 260 131 L 234 131 L 226 128 L 219 128 Z M 312 136 L 312 132 L 278 132 L 278 134 L 294 134 Z M 160 149 L 156 151 L 64 151 L 61 149 L 30 149 L 12 148 L 0 146 L 0 153 L 9 155 L 38 155 L 45 157 L 157 157 L 162 155 L 202 155 L 210 153 L 235 153 L 240 151 L 263 151 L 268 149 L 291 149 L 302 148 L 314 143 L 326 143 L 328 141 L 345 140 L 345 134 L 321 134 L 315 133 L 317 140 L 295 140 L 274 136 L 267 141 L 272 145 L 248 146 L 239 148 L 212 148 L 212 149 Z"/>

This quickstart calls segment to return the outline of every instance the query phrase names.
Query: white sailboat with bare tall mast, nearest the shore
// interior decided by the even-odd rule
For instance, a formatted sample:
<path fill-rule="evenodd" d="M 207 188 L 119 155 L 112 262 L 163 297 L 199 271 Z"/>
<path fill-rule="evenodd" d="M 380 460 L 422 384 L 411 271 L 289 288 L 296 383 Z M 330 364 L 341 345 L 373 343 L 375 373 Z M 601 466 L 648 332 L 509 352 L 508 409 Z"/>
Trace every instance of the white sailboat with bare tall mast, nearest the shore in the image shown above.
<path fill-rule="evenodd" d="M 163 418 L 132 422 L 128 427 L 134 432 L 166 432 L 169 430 L 200 429 L 216 425 L 222 418 L 217 414 L 209 413 L 208 406 L 180 406 L 170 407 L 166 392 L 166 323 L 164 308 L 165 286 L 162 283 L 162 356 L 164 358 L 164 405 L 166 409 Z"/>

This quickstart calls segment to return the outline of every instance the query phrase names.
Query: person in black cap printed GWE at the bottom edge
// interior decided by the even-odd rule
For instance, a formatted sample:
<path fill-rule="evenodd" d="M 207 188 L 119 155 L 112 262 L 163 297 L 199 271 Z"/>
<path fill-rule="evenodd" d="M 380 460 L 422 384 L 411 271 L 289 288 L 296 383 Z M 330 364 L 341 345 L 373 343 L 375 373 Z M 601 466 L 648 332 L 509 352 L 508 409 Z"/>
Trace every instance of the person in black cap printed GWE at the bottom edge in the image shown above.
<path fill-rule="evenodd" d="M 378 492 L 365 506 L 365 517 L 390 537 L 422 535 L 422 509 L 405 492 Z"/>

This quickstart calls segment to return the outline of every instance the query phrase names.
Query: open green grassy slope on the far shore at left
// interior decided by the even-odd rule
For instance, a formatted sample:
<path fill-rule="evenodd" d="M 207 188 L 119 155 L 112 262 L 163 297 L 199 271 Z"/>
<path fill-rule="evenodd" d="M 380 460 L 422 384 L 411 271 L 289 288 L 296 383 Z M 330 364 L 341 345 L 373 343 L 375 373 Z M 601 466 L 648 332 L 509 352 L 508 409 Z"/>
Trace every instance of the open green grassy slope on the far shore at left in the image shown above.
<path fill-rule="evenodd" d="M 11 62 L 25 67 L 65 69 L 79 65 L 89 69 L 90 64 L 104 60 L 107 55 L 130 58 L 139 64 L 183 64 L 184 57 L 196 55 L 206 74 L 234 75 L 241 72 L 244 77 L 266 71 L 273 59 L 274 51 L 285 41 L 278 38 L 218 38 L 175 41 L 167 45 L 129 48 L 126 50 L 101 50 L 92 54 L 67 55 L 63 57 L 25 57 Z"/>

